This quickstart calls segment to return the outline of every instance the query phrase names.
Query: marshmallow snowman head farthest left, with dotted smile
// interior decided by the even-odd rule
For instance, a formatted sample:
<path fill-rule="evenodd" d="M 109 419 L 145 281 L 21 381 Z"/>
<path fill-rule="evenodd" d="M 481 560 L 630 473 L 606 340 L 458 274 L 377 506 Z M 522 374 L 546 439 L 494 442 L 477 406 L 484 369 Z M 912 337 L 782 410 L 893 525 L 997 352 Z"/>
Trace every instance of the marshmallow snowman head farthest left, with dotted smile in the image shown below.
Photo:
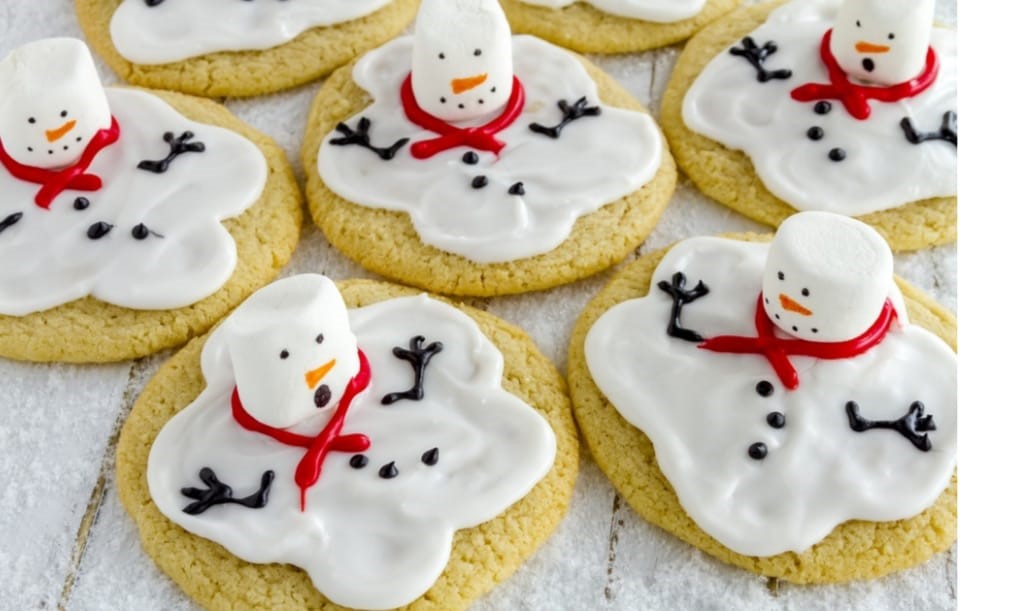
<path fill-rule="evenodd" d="M 14 161 L 56 169 L 74 164 L 112 115 L 88 48 L 44 38 L 0 61 L 0 143 Z"/>

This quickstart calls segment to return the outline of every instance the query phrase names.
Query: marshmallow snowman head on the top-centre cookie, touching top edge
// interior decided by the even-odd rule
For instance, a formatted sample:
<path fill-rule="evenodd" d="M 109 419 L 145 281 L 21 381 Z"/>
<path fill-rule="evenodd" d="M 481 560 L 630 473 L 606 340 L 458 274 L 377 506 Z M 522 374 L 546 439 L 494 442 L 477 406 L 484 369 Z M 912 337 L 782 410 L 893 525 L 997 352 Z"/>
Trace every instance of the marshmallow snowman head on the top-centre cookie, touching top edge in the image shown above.
<path fill-rule="evenodd" d="M 513 93 L 513 37 L 497 0 L 424 0 L 410 82 L 418 105 L 444 121 L 501 109 Z"/>

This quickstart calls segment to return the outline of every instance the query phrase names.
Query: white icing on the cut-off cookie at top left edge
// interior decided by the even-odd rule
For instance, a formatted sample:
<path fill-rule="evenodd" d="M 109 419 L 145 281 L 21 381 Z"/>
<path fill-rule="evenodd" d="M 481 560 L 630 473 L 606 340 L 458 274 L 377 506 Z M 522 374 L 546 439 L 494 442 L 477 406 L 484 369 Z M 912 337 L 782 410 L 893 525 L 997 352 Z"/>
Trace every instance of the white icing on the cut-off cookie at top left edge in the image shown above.
<path fill-rule="evenodd" d="M 220 51 L 278 47 L 313 27 L 351 21 L 391 0 L 124 0 L 109 24 L 119 55 L 168 64 Z M 339 42 L 339 41 L 338 41 Z"/>

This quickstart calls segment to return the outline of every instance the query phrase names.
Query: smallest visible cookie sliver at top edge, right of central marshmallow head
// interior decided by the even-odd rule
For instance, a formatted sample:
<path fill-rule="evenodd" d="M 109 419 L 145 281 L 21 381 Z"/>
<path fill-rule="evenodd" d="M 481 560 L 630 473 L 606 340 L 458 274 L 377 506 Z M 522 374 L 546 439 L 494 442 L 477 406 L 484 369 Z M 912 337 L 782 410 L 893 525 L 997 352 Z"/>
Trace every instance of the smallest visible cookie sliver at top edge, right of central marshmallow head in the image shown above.
<path fill-rule="evenodd" d="M 579 53 L 634 53 L 692 37 L 743 0 L 499 0 L 513 29 Z"/>

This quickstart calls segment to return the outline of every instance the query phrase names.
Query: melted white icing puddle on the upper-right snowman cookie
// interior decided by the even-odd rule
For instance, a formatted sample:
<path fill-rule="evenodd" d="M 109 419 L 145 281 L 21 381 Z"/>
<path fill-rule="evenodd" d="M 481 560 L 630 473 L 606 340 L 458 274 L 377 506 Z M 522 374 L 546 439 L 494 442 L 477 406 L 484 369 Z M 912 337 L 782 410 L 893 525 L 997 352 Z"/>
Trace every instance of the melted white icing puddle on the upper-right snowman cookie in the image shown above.
<path fill-rule="evenodd" d="M 937 81 L 920 95 L 896 103 L 870 100 L 871 115 L 853 118 L 839 100 L 828 114 L 790 92 L 806 83 L 827 83 L 819 47 L 841 0 L 795 0 L 749 34 L 758 46 L 774 40 L 769 70 L 789 69 L 786 80 L 760 83 L 743 58 L 725 51 L 703 70 L 684 97 L 682 113 L 694 132 L 751 158 L 762 183 L 801 210 L 858 215 L 956 193 L 956 154 L 951 144 L 910 144 L 900 122 L 910 117 L 923 132 L 937 130 L 944 112 L 956 108 L 955 32 L 934 28 L 931 46 L 940 62 Z M 735 41 L 735 47 L 740 41 Z M 808 129 L 824 129 L 820 141 Z M 846 159 L 828 154 L 840 148 Z"/>

